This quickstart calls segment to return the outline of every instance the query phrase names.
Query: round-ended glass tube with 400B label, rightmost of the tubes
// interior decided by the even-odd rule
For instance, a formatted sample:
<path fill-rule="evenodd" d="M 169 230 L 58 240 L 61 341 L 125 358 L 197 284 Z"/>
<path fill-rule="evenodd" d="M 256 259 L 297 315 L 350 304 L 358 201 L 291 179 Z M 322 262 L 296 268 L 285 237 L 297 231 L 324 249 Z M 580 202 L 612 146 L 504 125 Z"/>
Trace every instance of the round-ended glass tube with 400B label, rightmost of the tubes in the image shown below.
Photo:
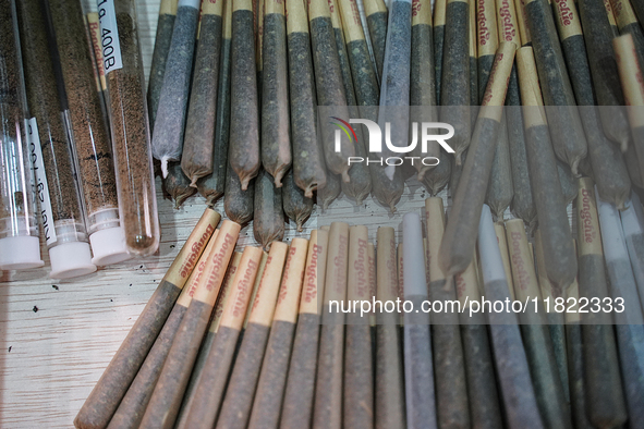
<path fill-rule="evenodd" d="M 134 0 L 98 0 L 119 210 L 127 249 L 157 252 L 159 219 Z"/>

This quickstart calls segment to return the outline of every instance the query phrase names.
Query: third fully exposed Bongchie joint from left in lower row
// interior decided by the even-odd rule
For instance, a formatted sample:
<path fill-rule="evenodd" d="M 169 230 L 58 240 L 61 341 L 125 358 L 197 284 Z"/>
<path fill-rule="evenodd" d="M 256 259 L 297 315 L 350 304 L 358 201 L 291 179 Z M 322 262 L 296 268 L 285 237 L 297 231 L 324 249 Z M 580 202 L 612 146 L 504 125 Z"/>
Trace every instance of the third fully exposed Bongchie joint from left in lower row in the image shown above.
<path fill-rule="evenodd" d="M 212 428 L 215 425 L 260 259 L 259 247 L 244 248 L 240 267 L 230 285 L 230 296 L 226 302 L 217 335 L 195 385 L 194 399 L 185 420 L 186 428 Z M 183 396 L 183 391 L 181 395 Z"/>

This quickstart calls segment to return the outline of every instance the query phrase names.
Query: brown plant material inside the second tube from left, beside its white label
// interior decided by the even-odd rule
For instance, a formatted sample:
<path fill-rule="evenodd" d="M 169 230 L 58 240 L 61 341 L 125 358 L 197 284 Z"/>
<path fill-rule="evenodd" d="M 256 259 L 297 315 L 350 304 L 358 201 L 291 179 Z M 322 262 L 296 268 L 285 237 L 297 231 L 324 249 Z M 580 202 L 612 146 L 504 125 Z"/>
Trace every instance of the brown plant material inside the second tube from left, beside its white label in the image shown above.
<path fill-rule="evenodd" d="M 81 229 L 84 232 L 78 184 L 72 167 L 74 161 L 71 143 L 63 125 L 59 95 L 53 85 L 56 74 L 47 40 L 45 11 L 39 0 L 20 1 L 16 7 L 29 113 L 38 122 L 52 221 L 54 224 L 59 221 L 74 222 L 76 231 Z"/>

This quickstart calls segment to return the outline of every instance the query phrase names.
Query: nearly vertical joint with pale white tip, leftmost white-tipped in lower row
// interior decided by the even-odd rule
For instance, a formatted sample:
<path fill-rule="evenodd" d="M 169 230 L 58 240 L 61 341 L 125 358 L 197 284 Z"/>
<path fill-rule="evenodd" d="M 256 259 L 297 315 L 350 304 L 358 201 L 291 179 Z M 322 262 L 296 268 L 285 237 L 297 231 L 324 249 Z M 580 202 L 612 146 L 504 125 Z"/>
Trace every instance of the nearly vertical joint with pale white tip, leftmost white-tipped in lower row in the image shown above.
<path fill-rule="evenodd" d="M 402 218 L 404 299 L 420 308 L 427 299 L 425 256 L 421 218 L 409 212 Z M 404 315 L 404 389 L 408 428 L 437 428 L 434 357 L 429 314 Z"/>

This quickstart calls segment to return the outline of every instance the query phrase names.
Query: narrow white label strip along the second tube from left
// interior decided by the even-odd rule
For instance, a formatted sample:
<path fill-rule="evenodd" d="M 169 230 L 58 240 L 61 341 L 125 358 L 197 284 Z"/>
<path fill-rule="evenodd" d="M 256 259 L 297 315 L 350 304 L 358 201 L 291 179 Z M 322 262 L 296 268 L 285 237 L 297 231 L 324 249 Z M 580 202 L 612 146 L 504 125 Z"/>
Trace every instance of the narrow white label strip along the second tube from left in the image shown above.
<path fill-rule="evenodd" d="M 42 221 L 42 231 L 47 246 L 56 243 L 56 229 L 53 228 L 53 211 L 51 210 L 51 200 L 49 198 L 49 186 L 45 175 L 45 162 L 42 161 L 42 148 L 40 137 L 38 136 L 38 123 L 36 118 L 27 122 L 27 139 L 29 143 L 29 157 L 34 166 L 34 179 L 36 180 L 36 198 L 40 206 L 40 220 Z"/>

